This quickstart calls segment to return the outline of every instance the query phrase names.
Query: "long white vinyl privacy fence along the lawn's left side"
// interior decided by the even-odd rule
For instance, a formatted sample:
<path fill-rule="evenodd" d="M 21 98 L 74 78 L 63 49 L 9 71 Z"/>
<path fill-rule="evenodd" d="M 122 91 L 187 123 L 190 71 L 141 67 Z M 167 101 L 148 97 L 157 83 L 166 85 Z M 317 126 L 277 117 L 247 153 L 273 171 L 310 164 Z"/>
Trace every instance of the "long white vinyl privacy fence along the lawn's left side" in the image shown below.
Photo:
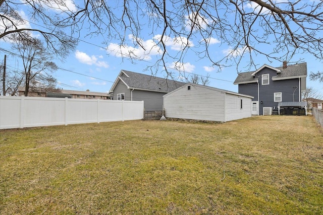
<path fill-rule="evenodd" d="M 0 129 L 143 119 L 143 101 L 0 96 Z"/>

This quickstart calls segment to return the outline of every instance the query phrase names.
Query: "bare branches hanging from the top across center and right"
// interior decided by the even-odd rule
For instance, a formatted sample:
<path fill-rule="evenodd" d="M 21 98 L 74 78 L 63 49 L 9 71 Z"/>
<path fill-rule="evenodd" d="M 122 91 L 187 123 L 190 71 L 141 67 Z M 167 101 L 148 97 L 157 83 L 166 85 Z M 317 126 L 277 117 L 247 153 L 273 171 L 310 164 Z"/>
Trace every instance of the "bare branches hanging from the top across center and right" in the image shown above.
<path fill-rule="evenodd" d="M 323 59 L 322 1 L 134 0 L 118 4 L 107 1 L 98 5 L 97 1 L 87 0 L 62 24 L 69 22 L 78 26 L 77 30 L 81 28 L 78 24 L 87 22 L 92 27 L 89 35 L 102 35 L 107 44 L 111 39 L 119 38 L 119 45 L 126 46 L 131 34 L 136 47 L 148 52 L 157 47 L 160 58 L 155 65 L 162 65 L 169 75 L 172 75 L 168 70 L 169 60 L 184 63 L 189 49 L 196 50 L 198 57 L 208 58 L 219 68 L 231 65 L 232 61 L 238 67 L 242 60 L 256 66 L 254 58 L 257 55 L 291 62 L 296 53 L 307 52 Z M 143 42 L 142 29 L 146 26 L 151 29 L 149 35 L 154 39 L 154 46 L 146 46 Z M 192 44 L 193 38 L 198 38 L 199 43 Z M 214 39 L 231 46 L 221 59 L 210 46 Z M 170 42 L 181 44 L 174 55 L 169 51 Z M 203 50 L 198 51 L 198 47 Z M 131 51 L 122 54 L 137 57 Z"/>

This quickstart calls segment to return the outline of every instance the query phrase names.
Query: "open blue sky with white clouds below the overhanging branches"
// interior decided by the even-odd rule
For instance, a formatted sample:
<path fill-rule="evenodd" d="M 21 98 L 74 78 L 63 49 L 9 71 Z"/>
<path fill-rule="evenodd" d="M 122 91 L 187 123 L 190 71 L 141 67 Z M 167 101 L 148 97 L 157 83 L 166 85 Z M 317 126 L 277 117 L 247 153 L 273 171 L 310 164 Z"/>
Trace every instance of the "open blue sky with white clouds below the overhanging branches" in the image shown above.
<path fill-rule="evenodd" d="M 25 19 L 29 20 L 28 16 L 26 16 Z M 34 26 L 33 23 L 26 23 L 26 25 L 30 25 L 31 27 Z M 153 36 L 149 36 L 149 30 L 151 30 L 149 27 L 143 29 L 142 35 L 147 36 L 145 36 L 145 38 L 140 38 L 146 47 L 151 47 L 154 43 Z M 147 34 L 145 34 L 145 31 Z M 59 83 L 57 85 L 58 87 L 70 90 L 89 89 L 93 92 L 108 92 L 121 69 L 150 75 L 151 71 L 145 69 L 147 66 L 152 66 L 159 57 L 158 50 L 152 49 L 148 53 L 141 48 L 131 45 L 133 41 L 133 36 L 131 34 L 126 35 L 126 39 L 129 42 L 129 45 L 126 47 L 119 47 L 118 40 L 111 40 L 109 44 L 103 45 L 103 39 L 101 37 L 84 37 L 86 34 L 87 32 L 84 28 L 81 32 L 76 50 L 72 51 L 64 62 L 59 60 L 55 61 L 60 67 L 60 69 L 53 74 Z M 194 44 L 197 44 L 198 40 L 200 40 L 200 38 L 192 39 L 190 41 L 191 46 L 194 47 Z M 182 44 L 174 41 L 174 38 L 169 38 L 167 46 L 168 50 L 175 54 L 181 49 Z M 259 46 L 261 46 L 261 44 L 259 44 Z M 3 40 L 0 40 L 0 47 L 11 50 L 10 43 Z M 210 40 L 209 52 L 213 56 L 219 56 L 219 59 L 224 57 L 231 49 L 231 46 L 221 43 L 218 38 L 214 37 Z M 121 51 L 124 53 L 129 50 L 141 57 L 141 60 L 130 60 L 125 56 L 122 57 L 120 54 Z M 9 69 L 19 69 L 22 67 L 22 64 L 19 63 L 19 61 L 4 51 L 0 52 L 1 61 L 4 58 L 4 54 L 7 54 L 7 65 Z M 299 59 L 302 59 L 300 62 L 307 62 L 308 75 L 311 71 L 322 71 L 322 62 L 315 59 L 312 55 L 306 53 L 296 54 L 292 61 L 298 61 Z M 255 63 L 258 64 L 258 67 L 261 67 L 263 64 L 272 65 L 274 67 L 282 66 L 281 62 L 270 62 L 264 56 L 260 55 L 255 58 Z M 211 87 L 238 92 L 238 87 L 234 85 L 233 82 L 238 75 L 238 71 L 247 71 L 245 69 L 245 66 L 247 65 L 248 62 L 246 61 L 239 65 L 239 70 L 237 70 L 236 66 L 231 66 L 222 68 L 219 72 L 218 67 L 210 67 L 208 59 L 199 59 L 195 52 L 188 51 L 185 56 L 185 63 L 181 68 L 182 71 L 184 68 L 185 76 L 189 76 L 190 74 L 209 76 L 209 86 Z M 174 69 L 174 59 L 169 59 L 167 66 L 170 71 L 174 72 L 174 78 L 179 78 L 180 75 Z M 166 76 L 162 67 L 159 67 L 156 71 L 156 76 Z M 306 86 L 318 90 L 323 95 L 323 83 L 311 81 L 308 77 Z"/>

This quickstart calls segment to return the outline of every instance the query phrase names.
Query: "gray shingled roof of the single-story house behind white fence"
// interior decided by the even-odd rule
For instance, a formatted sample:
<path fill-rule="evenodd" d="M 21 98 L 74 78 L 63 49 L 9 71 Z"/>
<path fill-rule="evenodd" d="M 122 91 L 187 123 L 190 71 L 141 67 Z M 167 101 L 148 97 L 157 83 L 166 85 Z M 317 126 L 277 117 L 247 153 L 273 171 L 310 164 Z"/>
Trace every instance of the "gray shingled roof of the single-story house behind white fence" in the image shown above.
<path fill-rule="evenodd" d="M 154 91 L 161 93 L 169 93 L 185 83 L 159 77 L 134 73 L 133 71 L 121 70 L 115 83 L 109 92 L 113 92 L 118 82 L 122 81 L 128 89 Z"/>

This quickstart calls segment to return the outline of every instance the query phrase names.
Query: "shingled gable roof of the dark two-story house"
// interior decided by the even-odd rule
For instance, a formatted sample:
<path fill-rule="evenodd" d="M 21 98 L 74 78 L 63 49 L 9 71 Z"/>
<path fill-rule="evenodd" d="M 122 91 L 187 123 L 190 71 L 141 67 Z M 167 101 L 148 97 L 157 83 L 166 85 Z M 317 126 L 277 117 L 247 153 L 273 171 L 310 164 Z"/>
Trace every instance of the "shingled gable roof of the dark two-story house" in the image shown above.
<path fill-rule="evenodd" d="M 287 68 L 280 67 L 272 67 L 264 64 L 256 71 L 248 71 L 246 73 L 240 73 L 233 84 L 248 84 L 248 83 L 256 83 L 258 81 L 258 77 L 256 74 L 263 68 L 271 68 L 277 72 L 277 76 L 272 78 L 273 81 L 276 80 L 284 80 L 284 79 L 296 79 L 296 78 L 306 78 L 307 76 L 307 63 L 299 63 L 294 65 L 288 65 Z"/>

